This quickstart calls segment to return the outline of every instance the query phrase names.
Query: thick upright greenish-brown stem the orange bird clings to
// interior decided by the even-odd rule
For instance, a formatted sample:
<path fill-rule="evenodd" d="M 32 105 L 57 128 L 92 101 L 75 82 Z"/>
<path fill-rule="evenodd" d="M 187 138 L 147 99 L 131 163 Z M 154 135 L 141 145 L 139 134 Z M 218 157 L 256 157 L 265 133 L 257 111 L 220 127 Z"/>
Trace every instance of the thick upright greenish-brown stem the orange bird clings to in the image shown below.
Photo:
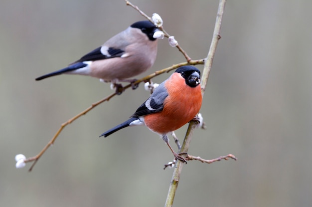
<path fill-rule="evenodd" d="M 210 69 L 212 66 L 212 60 L 214 58 L 214 54 L 217 48 L 217 43 L 220 39 L 220 29 L 221 29 L 221 23 L 222 23 L 222 17 L 223 17 L 223 12 L 225 8 L 225 2 L 226 0 L 220 0 L 219 1 L 219 7 L 218 7 L 218 12 L 217 12 L 217 17 L 216 17 L 216 23 L 213 31 L 213 37 L 211 41 L 211 45 L 209 48 L 208 55 L 206 57 L 205 65 L 204 65 L 204 70 L 203 70 L 203 75 L 201 77 L 201 87 L 202 87 L 202 95 L 204 95 L 204 91 L 207 85 Z M 187 132 L 181 147 L 180 152 L 187 153 L 188 148 L 189 148 L 189 143 L 192 138 L 192 132 L 195 129 L 196 123 L 191 121 L 188 125 Z M 174 168 L 171 183 L 169 186 L 169 191 L 167 195 L 167 199 L 165 202 L 165 207 L 172 207 L 173 205 L 173 200 L 175 196 L 175 192 L 177 190 L 177 186 L 180 180 L 180 174 L 182 171 L 183 167 L 183 162 L 177 161 L 176 167 Z"/>

